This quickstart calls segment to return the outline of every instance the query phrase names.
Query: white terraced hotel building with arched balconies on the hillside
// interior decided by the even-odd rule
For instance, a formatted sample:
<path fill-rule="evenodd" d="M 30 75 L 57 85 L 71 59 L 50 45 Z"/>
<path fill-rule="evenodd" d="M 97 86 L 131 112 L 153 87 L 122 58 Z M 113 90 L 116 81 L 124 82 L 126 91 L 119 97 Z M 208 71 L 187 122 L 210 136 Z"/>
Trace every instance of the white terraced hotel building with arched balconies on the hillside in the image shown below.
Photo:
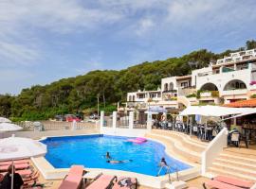
<path fill-rule="evenodd" d="M 256 94 L 256 49 L 230 53 L 210 62 L 209 67 L 193 70 L 190 76 L 162 78 L 161 89 L 156 91 L 128 93 L 127 110 L 148 105 L 182 109 L 199 103 L 229 103 L 251 94 Z"/>

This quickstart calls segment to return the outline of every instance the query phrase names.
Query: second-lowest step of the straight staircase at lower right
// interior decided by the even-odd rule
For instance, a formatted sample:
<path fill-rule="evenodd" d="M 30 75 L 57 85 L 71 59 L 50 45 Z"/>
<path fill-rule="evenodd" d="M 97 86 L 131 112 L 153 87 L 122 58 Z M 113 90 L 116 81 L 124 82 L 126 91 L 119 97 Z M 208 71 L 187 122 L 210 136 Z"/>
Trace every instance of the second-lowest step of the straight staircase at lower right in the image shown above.
<path fill-rule="evenodd" d="M 220 168 L 233 173 L 241 173 L 241 174 L 256 178 L 256 170 L 253 168 L 244 168 L 239 165 L 231 165 L 231 164 L 216 163 L 216 162 L 212 163 L 211 167 Z"/>

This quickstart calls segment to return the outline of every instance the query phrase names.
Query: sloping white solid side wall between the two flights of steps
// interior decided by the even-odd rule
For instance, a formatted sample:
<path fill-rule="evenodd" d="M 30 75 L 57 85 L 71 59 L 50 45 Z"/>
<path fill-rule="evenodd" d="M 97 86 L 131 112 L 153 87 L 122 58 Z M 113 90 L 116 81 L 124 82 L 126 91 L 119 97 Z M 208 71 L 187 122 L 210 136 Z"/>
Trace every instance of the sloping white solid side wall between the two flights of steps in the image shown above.
<path fill-rule="evenodd" d="M 228 144 L 228 129 L 222 129 L 202 153 L 202 175 L 205 175 L 213 161 Z"/>

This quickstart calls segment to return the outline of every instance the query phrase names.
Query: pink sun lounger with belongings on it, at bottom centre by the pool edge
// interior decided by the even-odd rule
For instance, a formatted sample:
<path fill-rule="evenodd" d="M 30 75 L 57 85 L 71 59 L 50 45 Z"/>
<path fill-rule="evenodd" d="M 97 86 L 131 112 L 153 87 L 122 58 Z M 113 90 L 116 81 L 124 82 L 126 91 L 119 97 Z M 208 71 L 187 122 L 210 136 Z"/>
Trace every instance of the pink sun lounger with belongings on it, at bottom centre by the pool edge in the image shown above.
<path fill-rule="evenodd" d="M 137 179 L 120 177 L 119 180 L 114 184 L 112 189 L 136 189 Z"/>

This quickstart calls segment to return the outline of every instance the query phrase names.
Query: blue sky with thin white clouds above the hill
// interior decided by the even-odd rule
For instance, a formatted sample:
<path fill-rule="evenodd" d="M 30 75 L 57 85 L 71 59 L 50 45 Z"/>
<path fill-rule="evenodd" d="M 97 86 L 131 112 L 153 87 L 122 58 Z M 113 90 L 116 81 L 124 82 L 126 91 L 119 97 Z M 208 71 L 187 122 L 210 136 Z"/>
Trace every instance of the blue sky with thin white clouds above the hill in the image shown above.
<path fill-rule="evenodd" d="M 256 40 L 255 0 L 0 0 L 0 94 Z"/>

